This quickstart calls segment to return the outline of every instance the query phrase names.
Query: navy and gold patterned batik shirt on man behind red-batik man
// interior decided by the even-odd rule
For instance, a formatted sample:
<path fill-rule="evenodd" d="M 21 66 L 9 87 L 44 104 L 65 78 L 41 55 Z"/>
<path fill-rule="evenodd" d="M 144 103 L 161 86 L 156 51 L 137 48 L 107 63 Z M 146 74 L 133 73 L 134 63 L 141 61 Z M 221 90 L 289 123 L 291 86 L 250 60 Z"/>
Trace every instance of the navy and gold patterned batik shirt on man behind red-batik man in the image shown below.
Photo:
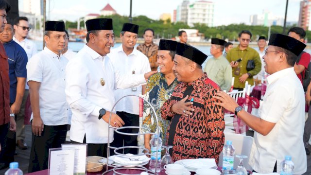
<path fill-rule="evenodd" d="M 166 133 L 170 121 L 162 120 L 160 110 L 164 102 L 166 102 L 171 97 L 177 84 L 178 82 L 175 79 L 171 85 L 168 85 L 164 74 L 160 72 L 152 75 L 147 82 L 145 92 L 146 99 L 155 109 L 155 113 L 159 121 L 159 132 L 162 136 L 161 139 L 163 140 L 163 143 L 166 142 Z M 146 127 L 150 129 L 150 132 L 156 133 L 157 124 L 154 116 L 154 112 L 152 111 L 150 105 L 147 102 L 144 102 L 142 127 Z M 143 129 L 143 132 L 148 132 L 148 130 Z"/>

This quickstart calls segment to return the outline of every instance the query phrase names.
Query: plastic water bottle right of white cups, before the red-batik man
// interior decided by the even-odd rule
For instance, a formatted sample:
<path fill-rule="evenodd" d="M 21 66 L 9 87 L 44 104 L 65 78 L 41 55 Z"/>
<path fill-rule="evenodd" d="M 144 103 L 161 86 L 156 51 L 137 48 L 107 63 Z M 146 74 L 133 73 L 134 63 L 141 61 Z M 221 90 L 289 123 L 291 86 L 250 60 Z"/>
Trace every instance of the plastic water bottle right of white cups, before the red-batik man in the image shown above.
<path fill-rule="evenodd" d="M 234 164 L 234 152 L 235 149 L 232 146 L 232 141 L 227 140 L 226 144 L 223 148 L 223 169 L 222 169 L 222 175 L 229 175 L 233 174 L 233 164 Z"/>

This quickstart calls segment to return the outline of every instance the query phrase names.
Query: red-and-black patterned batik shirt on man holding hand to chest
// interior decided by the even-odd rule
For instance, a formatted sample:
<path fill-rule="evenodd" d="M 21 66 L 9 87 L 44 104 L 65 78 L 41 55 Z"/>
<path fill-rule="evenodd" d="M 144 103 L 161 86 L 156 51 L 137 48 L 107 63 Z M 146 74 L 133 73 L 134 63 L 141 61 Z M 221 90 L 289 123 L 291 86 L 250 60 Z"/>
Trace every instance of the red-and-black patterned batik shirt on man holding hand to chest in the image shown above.
<path fill-rule="evenodd" d="M 218 163 L 223 150 L 225 136 L 224 108 L 215 105 L 220 102 L 213 98 L 220 88 L 207 78 L 207 74 L 191 83 L 180 83 L 171 98 L 161 108 L 164 120 L 171 120 L 167 133 L 168 145 L 173 145 L 173 160 L 187 158 L 215 158 Z M 172 105 L 189 95 L 186 102 L 193 98 L 192 115 L 188 117 L 171 111 Z"/>

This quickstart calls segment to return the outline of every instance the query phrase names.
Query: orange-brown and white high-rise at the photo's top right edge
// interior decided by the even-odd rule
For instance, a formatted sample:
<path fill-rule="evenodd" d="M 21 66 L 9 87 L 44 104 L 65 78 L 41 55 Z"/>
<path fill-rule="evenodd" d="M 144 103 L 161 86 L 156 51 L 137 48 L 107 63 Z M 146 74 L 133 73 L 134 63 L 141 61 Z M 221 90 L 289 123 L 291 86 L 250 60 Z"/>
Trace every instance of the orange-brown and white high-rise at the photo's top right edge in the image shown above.
<path fill-rule="evenodd" d="M 304 30 L 311 30 L 311 0 L 302 0 L 300 1 L 300 11 L 298 26 Z"/>

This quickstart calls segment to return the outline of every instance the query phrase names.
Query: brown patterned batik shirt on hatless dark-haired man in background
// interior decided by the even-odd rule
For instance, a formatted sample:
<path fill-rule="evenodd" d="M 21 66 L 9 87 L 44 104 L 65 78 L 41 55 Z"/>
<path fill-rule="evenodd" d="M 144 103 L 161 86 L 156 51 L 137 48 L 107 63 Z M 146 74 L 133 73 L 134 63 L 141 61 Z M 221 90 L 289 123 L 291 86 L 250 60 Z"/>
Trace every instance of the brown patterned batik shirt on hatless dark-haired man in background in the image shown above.
<path fill-rule="evenodd" d="M 151 43 L 149 46 L 147 46 L 145 43 L 141 43 L 137 46 L 137 50 L 148 57 L 152 71 L 157 70 L 156 54 L 158 47 L 159 46 L 155 43 Z"/>

